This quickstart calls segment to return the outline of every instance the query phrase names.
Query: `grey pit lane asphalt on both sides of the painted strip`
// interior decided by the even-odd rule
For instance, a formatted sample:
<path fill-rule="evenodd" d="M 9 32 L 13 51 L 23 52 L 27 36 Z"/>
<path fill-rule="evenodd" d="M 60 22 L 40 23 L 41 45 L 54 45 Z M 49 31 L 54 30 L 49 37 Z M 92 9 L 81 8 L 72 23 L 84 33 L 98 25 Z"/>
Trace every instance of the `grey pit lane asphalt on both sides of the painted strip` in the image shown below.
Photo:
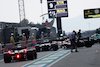
<path fill-rule="evenodd" d="M 74 52 L 65 56 L 50 67 L 100 67 L 100 44 L 95 44 L 91 48 L 78 48 L 79 52 Z M 38 52 L 38 59 L 53 53 L 54 51 Z M 21 67 L 35 60 L 4 63 L 0 62 L 0 67 Z"/>

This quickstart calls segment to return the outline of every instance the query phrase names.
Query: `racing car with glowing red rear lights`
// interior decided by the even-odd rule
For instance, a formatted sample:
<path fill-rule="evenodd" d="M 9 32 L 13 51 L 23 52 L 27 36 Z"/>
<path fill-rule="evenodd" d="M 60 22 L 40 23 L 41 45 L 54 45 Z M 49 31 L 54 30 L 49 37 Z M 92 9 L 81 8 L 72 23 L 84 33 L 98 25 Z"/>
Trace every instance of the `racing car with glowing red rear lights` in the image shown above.
<path fill-rule="evenodd" d="M 20 46 L 9 48 L 4 52 L 4 62 L 9 63 L 12 60 L 33 60 L 37 58 L 36 49 L 33 47 Z"/>

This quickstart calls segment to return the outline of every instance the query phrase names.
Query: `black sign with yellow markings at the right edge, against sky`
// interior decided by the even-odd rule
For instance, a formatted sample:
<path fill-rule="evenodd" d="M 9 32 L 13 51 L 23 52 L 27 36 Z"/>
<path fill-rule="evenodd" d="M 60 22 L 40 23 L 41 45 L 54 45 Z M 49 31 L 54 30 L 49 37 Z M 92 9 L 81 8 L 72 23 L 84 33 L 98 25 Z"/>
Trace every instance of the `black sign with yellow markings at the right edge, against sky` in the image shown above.
<path fill-rule="evenodd" d="M 84 10 L 84 18 L 98 18 L 100 17 L 100 8 Z"/>

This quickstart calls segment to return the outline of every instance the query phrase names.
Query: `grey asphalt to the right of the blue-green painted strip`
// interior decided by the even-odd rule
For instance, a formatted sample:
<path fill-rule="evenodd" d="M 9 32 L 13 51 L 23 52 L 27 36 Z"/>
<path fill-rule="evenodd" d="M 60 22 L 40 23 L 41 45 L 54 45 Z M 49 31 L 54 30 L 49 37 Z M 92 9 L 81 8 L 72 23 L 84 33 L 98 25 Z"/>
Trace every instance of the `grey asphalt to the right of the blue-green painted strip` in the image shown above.
<path fill-rule="evenodd" d="M 50 67 L 100 67 L 100 44 L 91 48 L 78 48 L 79 52 L 71 53 Z"/>

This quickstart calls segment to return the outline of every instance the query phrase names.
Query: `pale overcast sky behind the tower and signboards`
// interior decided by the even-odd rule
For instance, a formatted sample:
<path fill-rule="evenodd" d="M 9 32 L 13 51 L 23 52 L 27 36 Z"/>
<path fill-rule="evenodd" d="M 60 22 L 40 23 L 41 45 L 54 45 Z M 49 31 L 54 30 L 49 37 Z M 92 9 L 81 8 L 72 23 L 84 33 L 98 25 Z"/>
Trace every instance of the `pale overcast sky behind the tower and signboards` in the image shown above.
<path fill-rule="evenodd" d="M 69 17 L 62 18 L 62 29 L 71 32 L 92 30 L 100 27 L 100 18 L 84 19 L 83 10 L 100 8 L 100 0 L 67 0 Z M 26 19 L 30 22 L 41 23 L 40 0 L 24 0 Z M 43 0 L 43 13 L 47 13 L 47 0 Z M 0 21 L 19 22 L 18 0 L 0 0 Z M 56 27 L 56 21 L 54 23 Z"/>

